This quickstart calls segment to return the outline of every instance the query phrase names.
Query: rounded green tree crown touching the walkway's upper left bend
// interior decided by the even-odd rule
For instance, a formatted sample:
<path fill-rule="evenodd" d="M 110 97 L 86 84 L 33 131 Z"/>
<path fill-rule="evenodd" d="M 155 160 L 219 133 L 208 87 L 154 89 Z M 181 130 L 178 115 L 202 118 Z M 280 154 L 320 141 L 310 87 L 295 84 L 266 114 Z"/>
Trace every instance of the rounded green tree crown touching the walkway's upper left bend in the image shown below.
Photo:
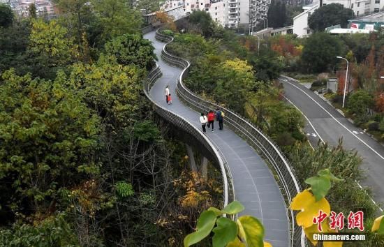
<path fill-rule="evenodd" d="M 105 51 L 115 56 L 122 65 L 135 64 L 147 70 L 154 66 L 154 59 L 157 59 L 151 41 L 145 40 L 140 34 L 119 36 L 105 45 Z"/>

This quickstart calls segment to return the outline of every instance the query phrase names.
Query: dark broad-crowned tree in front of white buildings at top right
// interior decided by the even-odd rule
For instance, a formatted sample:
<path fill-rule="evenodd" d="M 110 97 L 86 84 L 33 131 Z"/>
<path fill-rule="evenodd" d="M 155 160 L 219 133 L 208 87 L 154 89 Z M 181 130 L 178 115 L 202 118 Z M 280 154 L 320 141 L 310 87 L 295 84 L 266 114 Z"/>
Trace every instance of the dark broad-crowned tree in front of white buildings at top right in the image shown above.
<path fill-rule="evenodd" d="M 350 8 L 344 8 L 339 3 L 331 3 L 320 6 L 308 18 L 309 27 L 314 31 L 324 31 L 326 27 L 340 24 L 345 28 L 348 20 L 355 17 L 355 13 Z"/>

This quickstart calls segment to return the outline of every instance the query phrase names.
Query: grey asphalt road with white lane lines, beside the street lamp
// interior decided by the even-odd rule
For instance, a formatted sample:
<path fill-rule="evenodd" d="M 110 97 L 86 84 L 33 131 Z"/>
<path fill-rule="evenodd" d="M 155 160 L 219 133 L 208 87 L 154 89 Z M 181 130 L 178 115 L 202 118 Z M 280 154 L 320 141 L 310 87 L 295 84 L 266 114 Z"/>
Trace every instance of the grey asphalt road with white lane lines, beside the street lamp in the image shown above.
<path fill-rule="evenodd" d="M 363 158 L 365 178 L 360 181 L 373 191 L 376 202 L 384 202 L 384 147 L 350 123 L 342 114 L 296 80 L 280 77 L 286 99 L 295 105 L 307 119 L 304 131 L 316 147 L 319 138 L 335 146 L 343 138 L 345 149 L 353 149 Z"/>

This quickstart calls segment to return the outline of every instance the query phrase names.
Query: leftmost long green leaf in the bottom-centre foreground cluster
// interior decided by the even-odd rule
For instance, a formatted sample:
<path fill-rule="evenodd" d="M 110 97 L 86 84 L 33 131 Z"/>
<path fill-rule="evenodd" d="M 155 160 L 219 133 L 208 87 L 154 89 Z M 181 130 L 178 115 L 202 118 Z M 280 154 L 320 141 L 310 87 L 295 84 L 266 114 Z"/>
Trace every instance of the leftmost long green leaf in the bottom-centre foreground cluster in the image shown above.
<path fill-rule="evenodd" d="M 191 246 L 205 239 L 211 233 L 215 223 L 216 214 L 213 211 L 203 211 L 198 218 L 196 231 L 184 238 L 184 246 Z"/>

